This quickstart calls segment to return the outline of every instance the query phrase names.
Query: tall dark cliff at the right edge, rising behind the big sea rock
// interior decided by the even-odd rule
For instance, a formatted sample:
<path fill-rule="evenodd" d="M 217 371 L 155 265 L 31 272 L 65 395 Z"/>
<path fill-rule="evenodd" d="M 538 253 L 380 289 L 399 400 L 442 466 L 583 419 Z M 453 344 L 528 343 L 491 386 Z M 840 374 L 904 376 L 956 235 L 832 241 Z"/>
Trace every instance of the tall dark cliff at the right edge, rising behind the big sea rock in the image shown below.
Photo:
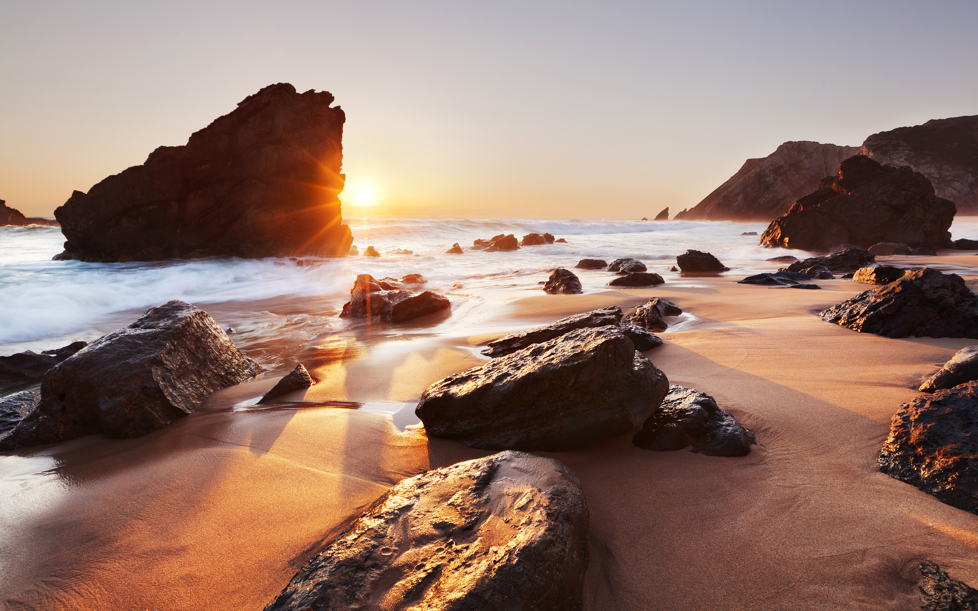
<path fill-rule="evenodd" d="M 938 197 L 954 201 L 959 214 L 978 214 L 978 115 L 873 134 L 860 153 L 886 165 L 911 166 L 930 180 Z"/>

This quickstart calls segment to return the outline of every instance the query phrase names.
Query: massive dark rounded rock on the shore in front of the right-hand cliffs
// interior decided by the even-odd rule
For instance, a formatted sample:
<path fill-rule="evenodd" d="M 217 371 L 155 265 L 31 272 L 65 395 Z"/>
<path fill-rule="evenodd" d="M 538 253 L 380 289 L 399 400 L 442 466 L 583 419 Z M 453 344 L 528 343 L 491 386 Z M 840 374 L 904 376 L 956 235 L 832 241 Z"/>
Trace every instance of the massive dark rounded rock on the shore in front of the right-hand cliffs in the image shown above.
<path fill-rule="evenodd" d="M 772 221 L 759 243 L 822 252 L 881 241 L 950 248 L 955 212 L 955 203 L 935 196 L 922 174 L 858 154 Z"/>

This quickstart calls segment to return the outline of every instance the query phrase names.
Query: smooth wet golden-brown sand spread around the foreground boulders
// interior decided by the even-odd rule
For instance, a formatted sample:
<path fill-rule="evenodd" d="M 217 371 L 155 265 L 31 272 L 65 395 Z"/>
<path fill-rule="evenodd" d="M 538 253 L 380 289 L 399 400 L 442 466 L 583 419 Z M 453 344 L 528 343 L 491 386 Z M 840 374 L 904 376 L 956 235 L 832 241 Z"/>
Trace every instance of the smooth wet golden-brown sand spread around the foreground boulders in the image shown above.
<path fill-rule="evenodd" d="M 689 315 L 646 356 L 671 383 L 714 395 L 760 445 L 716 458 L 639 450 L 626 435 L 541 453 L 587 496 L 588 609 L 916 609 L 922 559 L 978 586 L 978 516 L 876 469 L 890 417 L 974 341 L 888 339 L 815 315 L 867 284 L 734 280 L 541 294 L 454 333 L 344 339 L 310 368 L 320 382 L 283 400 L 410 402 L 483 363 L 471 347 L 506 330 L 662 296 Z M 490 454 L 366 410 L 232 407 L 275 378 L 141 439 L 7 455 L 0 466 L 23 475 L 2 480 L 6 608 L 260 609 L 387 487 Z"/>

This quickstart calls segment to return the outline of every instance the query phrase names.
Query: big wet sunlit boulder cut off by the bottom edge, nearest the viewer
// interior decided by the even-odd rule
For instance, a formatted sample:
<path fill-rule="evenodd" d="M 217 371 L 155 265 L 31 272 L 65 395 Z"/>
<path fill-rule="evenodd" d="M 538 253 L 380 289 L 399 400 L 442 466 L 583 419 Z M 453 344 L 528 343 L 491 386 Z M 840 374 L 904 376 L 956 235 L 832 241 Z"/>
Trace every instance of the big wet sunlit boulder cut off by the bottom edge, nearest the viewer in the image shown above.
<path fill-rule="evenodd" d="M 553 458 L 433 469 L 388 490 L 265 611 L 580 611 L 588 517 Z"/>

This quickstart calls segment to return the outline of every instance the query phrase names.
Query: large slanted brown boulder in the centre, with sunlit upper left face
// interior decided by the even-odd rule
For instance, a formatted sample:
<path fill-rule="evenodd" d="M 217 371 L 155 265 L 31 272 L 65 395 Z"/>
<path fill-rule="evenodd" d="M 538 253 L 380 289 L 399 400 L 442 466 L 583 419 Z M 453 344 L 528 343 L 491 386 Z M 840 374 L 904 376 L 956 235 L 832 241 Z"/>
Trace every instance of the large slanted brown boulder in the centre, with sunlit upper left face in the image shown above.
<path fill-rule="evenodd" d="M 415 414 L 469 448 L 558 452 L 640 426 L 668 385 L 619 329 L 583 328 L 435 382 Z"/>

